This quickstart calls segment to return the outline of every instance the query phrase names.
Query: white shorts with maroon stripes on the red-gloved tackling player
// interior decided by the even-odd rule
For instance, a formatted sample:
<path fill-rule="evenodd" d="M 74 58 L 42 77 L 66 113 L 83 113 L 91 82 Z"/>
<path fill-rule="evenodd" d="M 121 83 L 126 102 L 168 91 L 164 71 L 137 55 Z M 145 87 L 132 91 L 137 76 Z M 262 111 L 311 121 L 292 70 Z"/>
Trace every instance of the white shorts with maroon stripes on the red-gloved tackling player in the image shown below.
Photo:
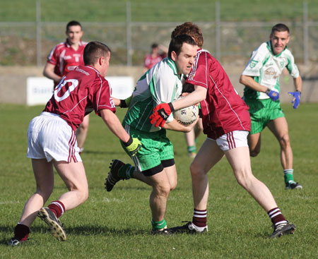
<path fill-rule="evenodd" d="M 212 138 L 208 139 L 216 141 L 216 144 L 221 150 L 228 151 L 236 147 L 248 147 L 247 135 L 249 135 L 248 131 L 231 131 L 221 135 L 220 138 L 217 138 L 216 140 L 213 140 Z"/>

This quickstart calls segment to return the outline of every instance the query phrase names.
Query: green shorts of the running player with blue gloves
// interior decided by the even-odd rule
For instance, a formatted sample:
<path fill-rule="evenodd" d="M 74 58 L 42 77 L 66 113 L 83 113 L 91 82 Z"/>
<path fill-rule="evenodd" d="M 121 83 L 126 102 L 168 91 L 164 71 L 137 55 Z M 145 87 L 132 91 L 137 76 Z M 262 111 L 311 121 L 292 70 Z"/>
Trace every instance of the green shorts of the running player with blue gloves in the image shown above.
<path fill-rule="evenodd" d="M 251 116 L 250 134 L 263 131 L 269 121 L 285 116 L 279 101 L 245 99 L 245 102 L 249 106 L 249 115 Z"/>

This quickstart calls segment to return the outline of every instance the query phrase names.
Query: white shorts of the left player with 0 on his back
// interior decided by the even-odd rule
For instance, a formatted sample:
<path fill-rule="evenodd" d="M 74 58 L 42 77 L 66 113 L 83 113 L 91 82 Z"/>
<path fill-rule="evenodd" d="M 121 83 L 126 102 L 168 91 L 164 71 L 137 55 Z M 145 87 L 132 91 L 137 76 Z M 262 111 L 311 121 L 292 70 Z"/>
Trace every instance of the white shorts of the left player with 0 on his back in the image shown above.
<path fill-rule="evenodd" d="M 82 162 L 75 131 L 57 114 L 42 112 L 28 128 L 29 158 Z"/>

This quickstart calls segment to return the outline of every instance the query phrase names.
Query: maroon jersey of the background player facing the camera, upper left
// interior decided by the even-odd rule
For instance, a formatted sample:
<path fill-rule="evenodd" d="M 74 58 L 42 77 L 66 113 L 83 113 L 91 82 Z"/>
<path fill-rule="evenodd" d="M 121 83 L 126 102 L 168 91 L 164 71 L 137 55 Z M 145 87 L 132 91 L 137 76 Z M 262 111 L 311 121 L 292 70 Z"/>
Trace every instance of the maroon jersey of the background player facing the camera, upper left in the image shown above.
<path fill-rule="evenodd" d="M 79 42 L 77 50 L 73 49 L 67 40 L 57 44 L 47 56 L 47 62 L 55 66 L 54 73 L 64 76 L 76 66 L 84 65 L 83 51 L 86 44 L 87 42 Z"/>

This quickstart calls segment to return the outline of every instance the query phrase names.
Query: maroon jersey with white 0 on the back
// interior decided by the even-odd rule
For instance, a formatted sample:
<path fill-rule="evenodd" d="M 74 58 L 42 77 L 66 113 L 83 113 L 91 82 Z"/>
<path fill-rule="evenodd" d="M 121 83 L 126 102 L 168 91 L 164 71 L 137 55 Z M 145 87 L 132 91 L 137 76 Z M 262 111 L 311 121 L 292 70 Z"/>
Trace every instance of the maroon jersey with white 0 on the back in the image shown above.
<path fill-rule="evenodd" d="M 59 114 L 75 131 L 84 116 L 101 109 L 116 112 L 107 80 L 92 66 L 78 66 L 61 79 L 43 112 Z"/>

